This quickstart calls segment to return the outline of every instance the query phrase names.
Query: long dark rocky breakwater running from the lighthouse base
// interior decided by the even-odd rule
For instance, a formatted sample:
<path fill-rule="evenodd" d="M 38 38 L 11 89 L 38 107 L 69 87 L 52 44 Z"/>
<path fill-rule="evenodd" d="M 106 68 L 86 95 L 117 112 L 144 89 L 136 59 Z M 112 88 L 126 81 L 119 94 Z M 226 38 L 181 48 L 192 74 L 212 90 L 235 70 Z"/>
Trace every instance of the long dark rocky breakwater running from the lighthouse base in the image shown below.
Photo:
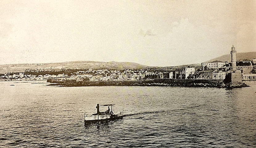
<path fill-rule="evenodd" d="M 51 85 L 60 86 L 181 86 L 181 87 L 246 87 L 245 83 L 239 85 L 229 85 L 223 80 L 216 79 L 151 79 L 136 81 L 81 81 L 76 79 L 63 80 L 58 78 L 49 78 L 47 82 L 56 83 Z"/>

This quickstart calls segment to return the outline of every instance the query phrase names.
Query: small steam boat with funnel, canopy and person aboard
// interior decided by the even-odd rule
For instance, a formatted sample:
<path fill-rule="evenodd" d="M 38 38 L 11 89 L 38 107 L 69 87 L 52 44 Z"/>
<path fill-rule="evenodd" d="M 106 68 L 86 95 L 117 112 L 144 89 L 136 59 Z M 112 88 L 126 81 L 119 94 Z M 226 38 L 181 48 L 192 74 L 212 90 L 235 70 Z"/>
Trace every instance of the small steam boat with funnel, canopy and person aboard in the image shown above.
<path fill-rule="evenodd" d="M 101 120 L 115 120 L 115 119 L 120 119 L 123 116 L 123 112 L 119 112 L 119 113 L 113 113 L 112 111 L 112 106 L 114 106 L 115 104 L 97 104 L 96 108 L 97 108 L 97 113 L 96 114 L 92 114 L 92 115 L 86 115 L 85 114 L 85 122 L 88 121 L 101 121 Z M 105 111 L 105 112 L 100 112 L 100 106 L 111 106 L 111 111 L 110 108 Z"/>

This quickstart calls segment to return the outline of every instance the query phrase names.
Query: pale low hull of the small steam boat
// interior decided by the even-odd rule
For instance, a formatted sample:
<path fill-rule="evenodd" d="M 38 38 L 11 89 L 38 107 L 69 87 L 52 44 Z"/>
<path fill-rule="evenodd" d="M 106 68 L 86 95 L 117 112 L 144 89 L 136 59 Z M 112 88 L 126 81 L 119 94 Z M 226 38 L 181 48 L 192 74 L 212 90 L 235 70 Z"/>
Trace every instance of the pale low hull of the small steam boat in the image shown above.
<path fill-rule="evenodd" d="M 86 115 L 85 114 L 85 122 L 86 121 L 99 121 L 99 120 L 115 120 L 122 118 L 123 112 L 118 114 L 102 114 L 102 115 Z"/>

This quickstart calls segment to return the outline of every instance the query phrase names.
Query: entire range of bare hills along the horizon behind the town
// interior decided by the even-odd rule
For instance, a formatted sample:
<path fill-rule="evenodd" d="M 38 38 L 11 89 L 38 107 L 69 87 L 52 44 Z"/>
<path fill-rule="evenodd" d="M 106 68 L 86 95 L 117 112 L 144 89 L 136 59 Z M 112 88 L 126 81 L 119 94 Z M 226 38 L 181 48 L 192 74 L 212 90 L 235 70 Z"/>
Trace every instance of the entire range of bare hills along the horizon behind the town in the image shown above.
<path fill-rule="evenodd" d="M 241 59 L 252 59 L 256 58 L 256 52 L 240 52 L 236 54 L 237 61 Z M 231 61 L 231 55 L 222 55 L 214 59 L 210 59 L 207 62 L 213 61 Z M 179 66 L 146 66 L 134 62 L 100 62 L 100 61 L 67 61 L 67 62 L 57 62 L 57 63 L 30 63 L 30 64 L 4 64 L 0 65 L 0 73 L 7 72 L 22 72 L 26 69 L 41 69 L 41 70 L 60 70 L 62 68 L 66 69 L 144 69 L 144 68 L 180 68 L 183 66 L 200 67 L 200 63 L 179 65 Z"/>

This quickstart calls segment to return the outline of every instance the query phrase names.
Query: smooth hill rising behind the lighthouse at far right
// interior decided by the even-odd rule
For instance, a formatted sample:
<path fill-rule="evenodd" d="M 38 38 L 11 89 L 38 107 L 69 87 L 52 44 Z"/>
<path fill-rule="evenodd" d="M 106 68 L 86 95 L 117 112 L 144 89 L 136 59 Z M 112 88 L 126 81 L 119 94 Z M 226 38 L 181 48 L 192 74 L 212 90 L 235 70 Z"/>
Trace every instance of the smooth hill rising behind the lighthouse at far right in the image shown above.
<path fill-rule="evenodd" d="M 241 52 L 241 53 L 237 53 L 236 54 L 236 58 L 237 58 L 237 61 L 239 60 L 243 60 L 243 59 L 249 59 L 250 61 L 252 61 L 252 59 L 256 58 L 256 52 Z M 227 54 L 227 55 L 222 55 L 222 56 L 219 56 L 217 58 L 214 58 L 214 59 L 211 59 L 207 62 L 213 62 L 213 61 L 222 61 L 222 62 L 225 62 L 225 61 L 231 61 L 231 55 L 230 54 Z"/>

